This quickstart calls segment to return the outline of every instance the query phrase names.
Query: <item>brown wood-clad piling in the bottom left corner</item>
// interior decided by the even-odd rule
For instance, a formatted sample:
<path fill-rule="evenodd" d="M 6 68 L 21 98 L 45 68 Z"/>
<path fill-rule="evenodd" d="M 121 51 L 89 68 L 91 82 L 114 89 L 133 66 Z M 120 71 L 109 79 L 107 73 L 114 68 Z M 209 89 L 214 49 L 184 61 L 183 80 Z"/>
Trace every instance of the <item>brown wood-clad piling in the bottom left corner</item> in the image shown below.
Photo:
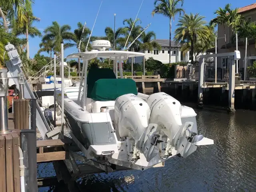
<path fill-rule="evenodd" d="M 0 191 L 20 192 L 19 142 L 16 132 L 0 135 Z"/>

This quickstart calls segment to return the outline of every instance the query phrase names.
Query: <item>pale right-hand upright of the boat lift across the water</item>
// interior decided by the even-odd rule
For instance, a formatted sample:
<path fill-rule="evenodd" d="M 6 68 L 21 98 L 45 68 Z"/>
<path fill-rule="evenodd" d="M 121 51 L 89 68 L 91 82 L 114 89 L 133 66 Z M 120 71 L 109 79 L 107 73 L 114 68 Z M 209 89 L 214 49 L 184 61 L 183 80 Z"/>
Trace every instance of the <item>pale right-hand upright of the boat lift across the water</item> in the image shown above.
<path fill-rule="evenodd" d="M 234 114 L 234 102 L 235 102 L 235 66 L 236 62 L 234 56 L 229 57 L 229 79 L 228 79 L 228 113 Z"/>

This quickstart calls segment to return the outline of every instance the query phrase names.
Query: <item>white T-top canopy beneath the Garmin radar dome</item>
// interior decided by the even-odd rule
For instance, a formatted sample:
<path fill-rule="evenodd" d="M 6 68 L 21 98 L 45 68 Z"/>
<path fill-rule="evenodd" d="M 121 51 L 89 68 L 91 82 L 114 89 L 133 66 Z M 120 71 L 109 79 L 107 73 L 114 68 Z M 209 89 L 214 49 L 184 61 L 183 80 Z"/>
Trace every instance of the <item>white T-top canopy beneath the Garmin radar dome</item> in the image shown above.
<path fill-rule="evenodd" d="M 111 60 L 115 60 L 116 57 L 121 56 L 122 60 L 126 60 L 129 57 L 140 57 L 145 56 L 144 53 L 140 52 L 131 52 L 131 51 L 89 51 L 89 52 L 81 52 L 74 53 L 67 56 L 68 59 L 78 58 L 81 56 L 82 60 L 90 60 L 93 58 L 110 58 Z"/>

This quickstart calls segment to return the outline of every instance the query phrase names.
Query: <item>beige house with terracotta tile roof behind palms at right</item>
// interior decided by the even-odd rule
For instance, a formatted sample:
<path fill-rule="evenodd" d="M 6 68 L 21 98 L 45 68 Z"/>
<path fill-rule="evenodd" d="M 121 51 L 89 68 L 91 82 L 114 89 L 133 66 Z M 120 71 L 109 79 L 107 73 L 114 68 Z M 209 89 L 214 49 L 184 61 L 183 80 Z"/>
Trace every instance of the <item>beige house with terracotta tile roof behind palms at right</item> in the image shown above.
<path fill-rule="evenodd" d="M 244 6 L 238 9 L 238 13 L 248 21 L 256 21 L 256 3 Z M 225 45 L 225 34 L 224 25 L 218 25 L 218 41 L 217 41 L 217 53 L 234 52 L 236 50 L 236 40 L 232 40 L 234 32 L 232 27 L 225 26 L 226 30 L 226 45 Z M 243 76 L 244 72 L 244 58 L 245 58 L 245 39 L 238 38 L 238 50 L 240 51 L 241 59 L 238 60 L 238 71 L 240 76 Z M 207 52 L 214 52 L 215 48 L 207 50 Z M 248 37 L 247 56 L 256 56 L 255 40 Z M 252 64 L 253 60 L 249 60 L 247 66 Z M 218 57 L 217 68 L 221 68 L 221 78 L 227 77 L 228 71 L 228 58 Z"/>

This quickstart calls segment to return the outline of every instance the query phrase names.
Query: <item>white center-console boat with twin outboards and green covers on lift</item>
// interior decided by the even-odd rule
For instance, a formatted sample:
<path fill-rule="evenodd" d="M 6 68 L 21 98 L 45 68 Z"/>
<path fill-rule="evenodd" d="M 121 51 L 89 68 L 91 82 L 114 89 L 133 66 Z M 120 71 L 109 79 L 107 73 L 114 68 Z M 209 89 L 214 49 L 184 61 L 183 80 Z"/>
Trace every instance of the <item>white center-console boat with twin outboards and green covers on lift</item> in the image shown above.
<path fill-rule="evenodd" d="M 122 78 L 122 60 L 144 53 L 108 51 L 108 45 L 95 41 L 92 46 L 97 50 L 67 57 L 80 57 L 85 64 L 80 86 L 64 88 L 64 113 L 86 158 L 146 170 L 176 155 L 186 158 L 198 145 L 213 144 L 198 135 L 192 108 L 164 92 L 138 93 L 134 80 Z M 92 58 L 115 60 L 114 70 L 91 68 L 87 76 Z M 121 78 L 117 78 L 118 61 Z M 61 105 L 61 89 L 57 102 Z"/>

